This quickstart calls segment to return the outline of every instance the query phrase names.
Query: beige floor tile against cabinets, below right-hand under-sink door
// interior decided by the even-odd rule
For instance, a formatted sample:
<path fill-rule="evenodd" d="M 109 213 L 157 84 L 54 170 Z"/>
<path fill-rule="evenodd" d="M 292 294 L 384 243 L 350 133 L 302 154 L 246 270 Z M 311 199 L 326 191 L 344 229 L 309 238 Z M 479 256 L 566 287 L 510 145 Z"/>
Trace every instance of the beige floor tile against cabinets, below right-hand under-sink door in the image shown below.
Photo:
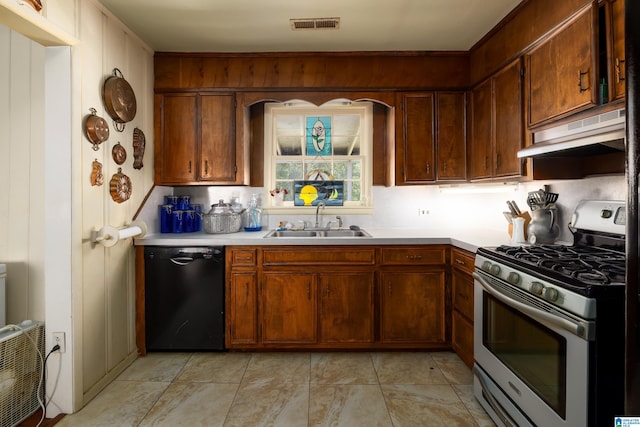
<path fill-rule="evenodd" d="M 378 376 L 369 353 L 313 353 L 311 384 L 378 384 Z"/>

